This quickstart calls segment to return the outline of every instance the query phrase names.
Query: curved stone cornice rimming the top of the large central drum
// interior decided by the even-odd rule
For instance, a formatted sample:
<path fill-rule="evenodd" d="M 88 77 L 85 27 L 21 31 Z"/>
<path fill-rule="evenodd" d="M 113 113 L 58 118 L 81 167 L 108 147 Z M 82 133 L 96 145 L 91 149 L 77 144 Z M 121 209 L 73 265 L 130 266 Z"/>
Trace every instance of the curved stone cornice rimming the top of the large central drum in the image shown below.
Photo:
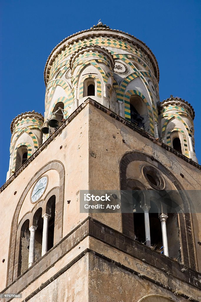
<path fill-rule="evenodd" d="M 79 35 L 80 35 L 80 37 L 79 37 Z M 45 65 L 45 69 L 44 69 L 45 85 L 47 85 L 47 82 L 48 82 L 47 76 L 49 75 L 48 71 L 50 70 L 53 62 L 71 44 L 78 42 L 78 40 L 82 41 L 84 39 L 88 39 L 88 38 L 92 38 L 92 37 L 95 38 L 95 37 L 111 37 L 111 36 L 113 38 L 116 38 L 121 41 L 123 40 L 125 42 L 133 44 L 134 46 L 137 46 L 138 48 L 140 48 L 143 51 L 143 53 L 145 53 L 146 56 L 150 59 L 152 65 L 153 65 L 153 68 L 154 68 L 155 77 L 159 82 L 158 62 L 156 60 L 156 57 L 150 50 L 150 48 L 144 42 L 142 42 L 141 40 L 137 39 L 136 37 L 134 37 L 128 33 L 125 33 L 124 31 L 111 29 L 111 28 L 107 27 L 106 25 L 103 25 L 103 26 L 95 25 L 94 27 L 91 27 L 90 29 L 87 29 L 84 31 L 79 31 L 75 34 L 72 34 L 57 44 L 57 46 L 50 53 L 50 55 L 47 59 L 46 65 Z M 103 47 L 104 47 L 104 45 L 103 45 Z M 49 68 L 48 68 L 48 66 L 49 66 Z"/>

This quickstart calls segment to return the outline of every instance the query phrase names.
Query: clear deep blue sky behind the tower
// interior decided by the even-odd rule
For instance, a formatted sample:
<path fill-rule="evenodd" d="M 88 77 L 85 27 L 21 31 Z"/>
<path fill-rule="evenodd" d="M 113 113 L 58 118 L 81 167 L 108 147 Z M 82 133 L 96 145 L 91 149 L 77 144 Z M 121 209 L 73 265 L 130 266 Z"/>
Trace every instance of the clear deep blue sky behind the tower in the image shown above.
<path fill-rule="evenodd" d="M 190 102 L 196 155 L 201 163 L 201 1 L 11 1 L 1 0 L 1 175 L 6 179 L 12 119 L 25 111 L 44 113 L 43 71 L 52 49 L 98 20 L 128 32 L 152 50 L 159 63 L 160 99 L 171 94 Z"/>

